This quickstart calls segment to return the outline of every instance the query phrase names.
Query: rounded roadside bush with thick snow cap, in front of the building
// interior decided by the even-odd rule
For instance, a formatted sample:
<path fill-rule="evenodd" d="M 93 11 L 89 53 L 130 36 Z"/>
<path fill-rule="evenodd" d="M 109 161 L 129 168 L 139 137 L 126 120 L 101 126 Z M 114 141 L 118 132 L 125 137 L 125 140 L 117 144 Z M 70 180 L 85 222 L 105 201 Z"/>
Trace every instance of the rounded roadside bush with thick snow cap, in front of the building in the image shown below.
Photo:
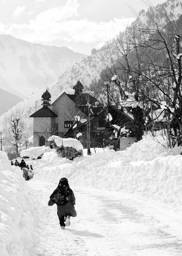
<path fill-rule="evenodd" d="M 51 136 L 48 138 L 53 148 L 56 149 L 58 156 L 66 157 L 73 160 L 75 157 L 83 156 L 83 145 L 78 139 L 73 138 L 61 138 L 59 136 Z"/>

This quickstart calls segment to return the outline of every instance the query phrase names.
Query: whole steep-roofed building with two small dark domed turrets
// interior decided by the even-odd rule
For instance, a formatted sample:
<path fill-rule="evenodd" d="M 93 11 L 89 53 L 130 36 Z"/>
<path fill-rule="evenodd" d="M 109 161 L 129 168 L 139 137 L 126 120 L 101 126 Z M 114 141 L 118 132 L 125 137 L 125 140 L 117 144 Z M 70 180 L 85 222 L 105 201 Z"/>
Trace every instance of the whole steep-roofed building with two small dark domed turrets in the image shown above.
<path fill-rule="evenodd" d="M 123 109 L 113 105 L 103 108 L 92 92 L 83 92 L 84 86 L 80 81 L 73 89 L 74 94 L 66 93 L 68 91 L 65 90 L 52 104 L 51 94 L 47 90 L 43 93 L 43 107 L 30 115 L 33 118 L 33 146 L 48 146 L 47 139 L 57 135 L 78 138 L 84 148 L 88 146 L 88 141 L 90 147 L 100 147 L 103 142 L 110 145 L 115 139 L 116 148 L 121 148 L 118 140 L 120 132 L 116 137 L 113 132 L 117 126 L 124 127 L 131 122 L 132 118 Z M 109 122 L 108 113 L 112 119 Z"/>

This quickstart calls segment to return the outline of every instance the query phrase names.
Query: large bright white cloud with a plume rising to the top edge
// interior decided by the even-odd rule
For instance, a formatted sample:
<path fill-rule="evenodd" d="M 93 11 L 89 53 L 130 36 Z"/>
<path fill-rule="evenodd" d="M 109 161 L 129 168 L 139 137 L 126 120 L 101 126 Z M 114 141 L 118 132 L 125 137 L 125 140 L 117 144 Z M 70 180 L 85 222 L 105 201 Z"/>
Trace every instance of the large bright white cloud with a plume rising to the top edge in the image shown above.
<path fill-rule="evenodd" d="M 12 24 L 6 29 L 10 34 L 30 42 L 65 40 L 68 42 L 107 41 L 134 19 L 121 18 L 109 22 L 94 22 L 86 18 L 78 20 L 78 0 L 68 0 L 64 6 L 48 9 L 30 20 L 29 24 Z M 76 19 L 77 18 L 77 19 Z"/>

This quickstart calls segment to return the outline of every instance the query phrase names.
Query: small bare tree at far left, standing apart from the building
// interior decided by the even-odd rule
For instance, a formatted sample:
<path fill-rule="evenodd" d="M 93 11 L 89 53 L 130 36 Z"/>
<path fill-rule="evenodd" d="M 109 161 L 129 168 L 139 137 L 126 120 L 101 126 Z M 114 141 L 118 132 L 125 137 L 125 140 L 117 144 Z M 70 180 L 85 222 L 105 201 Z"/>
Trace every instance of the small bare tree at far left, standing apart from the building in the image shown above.
<path fill-rule="evenodd" d="M 16 157 L 18 153 L 18 143 L 26 134 L 26 125 L 24 122 L 23 110 L 17 105 L 10 109 L 10 113 L 5 115 L 5 141 L 16 148 Z"/>

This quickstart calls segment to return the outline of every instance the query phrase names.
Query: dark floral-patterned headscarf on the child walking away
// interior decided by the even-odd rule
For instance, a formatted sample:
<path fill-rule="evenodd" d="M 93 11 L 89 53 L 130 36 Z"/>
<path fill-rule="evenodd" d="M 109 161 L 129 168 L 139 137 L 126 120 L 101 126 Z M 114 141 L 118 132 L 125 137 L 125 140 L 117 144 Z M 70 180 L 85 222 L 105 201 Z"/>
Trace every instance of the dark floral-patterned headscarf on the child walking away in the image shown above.
<path fill-rule="evenodd" d="M 72 193 L 73 191 L 68 184 L 68 180 L 62 178 L 60 179 L 57 188 L 50 196 L 50 199 L 57 205 L 66 205 L 69 202 Z"/>

